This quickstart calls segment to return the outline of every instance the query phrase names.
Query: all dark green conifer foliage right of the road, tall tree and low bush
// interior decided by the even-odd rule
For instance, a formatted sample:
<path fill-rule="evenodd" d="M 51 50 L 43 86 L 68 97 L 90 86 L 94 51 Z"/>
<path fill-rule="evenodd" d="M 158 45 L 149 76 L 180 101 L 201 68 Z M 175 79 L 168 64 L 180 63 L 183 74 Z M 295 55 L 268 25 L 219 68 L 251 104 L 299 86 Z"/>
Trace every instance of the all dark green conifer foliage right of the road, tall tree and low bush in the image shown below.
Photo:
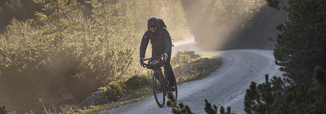
<path fill-rule="evenodd" d="M 271 82 L 250 85 L 245 111 L 262 114 L 323 114 L 325 112 L 326 1 L 267 0 L 268 6 L 289 12 L 277 25 L 275 64 L 283 74 Z M 273 40 L 272 38 L 270 40 Z M 273 87 L 272 87 L 273 85 Z"/>

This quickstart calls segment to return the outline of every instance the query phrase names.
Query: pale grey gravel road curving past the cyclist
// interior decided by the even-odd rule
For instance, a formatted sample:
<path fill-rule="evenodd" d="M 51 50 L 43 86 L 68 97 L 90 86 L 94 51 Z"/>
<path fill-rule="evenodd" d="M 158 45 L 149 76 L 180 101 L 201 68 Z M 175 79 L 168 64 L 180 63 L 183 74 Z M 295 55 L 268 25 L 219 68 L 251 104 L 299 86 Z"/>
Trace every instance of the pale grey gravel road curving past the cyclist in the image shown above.
<path fill-rule="evenodd" d="M 262 83 L 265 74 L 270 77 L 281 76 L 274 64 L 273 51 L 270 50 L 228 50 L 202 52 L 222 57 L 222 66 L 202 80 L 178 85 L 178 100 L 188 105 L 196 114 L 206 114 L 205 102 L 216 106 L 231 106 L 233 113 L 245 114 L 244 95 L 252 81 Z M 172 108 L 159 108 L 154 97 L 135 103 L 101 111 L 100 114 L 171 114 Z"/>

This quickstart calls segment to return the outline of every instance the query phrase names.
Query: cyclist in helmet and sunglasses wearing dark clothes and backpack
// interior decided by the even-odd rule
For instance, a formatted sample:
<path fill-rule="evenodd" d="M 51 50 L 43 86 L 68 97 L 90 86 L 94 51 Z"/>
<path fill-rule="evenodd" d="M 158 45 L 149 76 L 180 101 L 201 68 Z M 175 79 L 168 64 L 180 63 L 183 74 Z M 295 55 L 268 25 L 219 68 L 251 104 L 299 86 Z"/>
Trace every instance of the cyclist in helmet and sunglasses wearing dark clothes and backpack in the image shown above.
<path fill-rule="evenodd" d="M 161 20 L 161 19 L 160 19 Z M 149 40 L 151 40 L 152 44 L 152 57 L 161 56 L 163 54 L 166 63 L 164 64 L 164 70 L 167 71 L 168 75 L 168 85 L 169 91 L 175 91 L 174 87 L 174 73 L 172 67 L 170 65 L 171 59 L 171 49 L 172 49 L 172 41 L 169 34 L 169 31 L 162 27 L 159 24 L 159 19 L 156 17 L 151 17 L 147 20 L 147 31 L 144 33 L 141 39 L 140 46 L 140 64 L 144 61 L 145 52 Z M 161 37 L 162 36 L 162 37 Z"/>

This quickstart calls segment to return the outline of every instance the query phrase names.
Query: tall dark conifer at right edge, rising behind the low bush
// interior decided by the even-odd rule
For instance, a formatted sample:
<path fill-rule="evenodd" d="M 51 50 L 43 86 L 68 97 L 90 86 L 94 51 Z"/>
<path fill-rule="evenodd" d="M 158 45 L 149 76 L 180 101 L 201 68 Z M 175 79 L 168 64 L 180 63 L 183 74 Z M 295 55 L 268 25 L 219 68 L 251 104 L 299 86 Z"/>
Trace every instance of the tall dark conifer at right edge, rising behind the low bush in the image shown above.
<path fill-rule="evenodd" d="M 269 6 L 289 12 L 289 21 L 277 25 L 275 64 L 281 66 L 286 78 L 274 80 L 273 85 L 287 83 L 278 90 L 298 91 L 305 83 L 306 89 L 313 86 L 313 71 L 316 66 L 326 68 L 326 0 L 291 0 L 289 5 L 279 0 L 268 0 Z M 276 81 L 276 82 L 275 82 Z"/>

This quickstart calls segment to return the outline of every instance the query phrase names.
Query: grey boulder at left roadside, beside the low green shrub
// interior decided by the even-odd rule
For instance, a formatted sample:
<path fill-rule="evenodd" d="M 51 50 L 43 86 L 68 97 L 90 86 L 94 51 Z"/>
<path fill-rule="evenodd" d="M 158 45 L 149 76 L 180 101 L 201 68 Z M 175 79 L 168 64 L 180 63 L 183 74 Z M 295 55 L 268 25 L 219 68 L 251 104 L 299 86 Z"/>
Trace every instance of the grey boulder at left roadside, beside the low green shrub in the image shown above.
<path fill-rule="evenodd" d="M 107 90 L 110 91 L 109 87 L 105 86 L 105 88 L 107 88 Z M 92 93 L 81 104 L 79 104 L 78 107 L 84 109 L 84 107 L 88 108 L 89 106 L 97 106 L 97 105 L 112 103 L 113 100 L 101 96 L 104 96 L 101 93 L 101 90 Z"/>

